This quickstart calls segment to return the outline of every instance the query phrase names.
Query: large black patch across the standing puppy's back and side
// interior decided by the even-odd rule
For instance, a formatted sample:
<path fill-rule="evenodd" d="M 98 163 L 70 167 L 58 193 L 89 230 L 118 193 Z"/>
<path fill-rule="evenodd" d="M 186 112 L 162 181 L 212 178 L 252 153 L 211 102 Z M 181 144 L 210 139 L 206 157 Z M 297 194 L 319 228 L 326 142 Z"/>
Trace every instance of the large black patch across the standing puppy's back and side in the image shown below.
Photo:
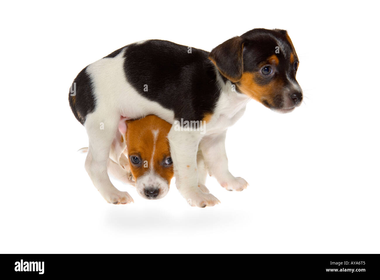
<path fill-rule="evenodd" d="M 179 120 L 202 120 L 220 96 L 209 52 L 164 40 L 127 47 L 124 71 L 139 94 L 174 111 Z M 144 85 L 148 91 L 144 91 Z"/>

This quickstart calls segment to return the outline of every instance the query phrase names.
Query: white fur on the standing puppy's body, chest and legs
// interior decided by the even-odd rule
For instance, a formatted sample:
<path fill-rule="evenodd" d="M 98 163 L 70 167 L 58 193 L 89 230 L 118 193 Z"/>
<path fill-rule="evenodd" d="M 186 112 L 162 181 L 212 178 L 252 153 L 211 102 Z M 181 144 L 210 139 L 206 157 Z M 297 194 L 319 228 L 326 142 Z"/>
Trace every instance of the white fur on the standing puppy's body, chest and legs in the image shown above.
<path fill-rule="evenodd" d="M 84 123 L 89 136 L 89 152 L 85 167 L 95 187 L 110 203 L 131 201 L 126 192 L 120 192 L 112 185 L 107 174 L 109 147 L 112 146 L 117 153 L 120 150 L 114 141 L 120 139 L 118 133 L 120 116 L 133 119 L 154 114 L 169 123 L 174 122 L 172 110 L 144 98 L 127 82 L 123 70 L 125 51 L 128 51 L 128 48 L 114 58 L 100 59 L 87 67 L 87 73 L 92 78 L 97 106 L 94 112 L 87 115 Z M 216 68 L 215 72 L 222 93 L 211 120 L 206 123 L 205 134 L 200 134 L 199 131 L 176 131 L 174 126 L 168 134 L 177 189 L 190 205 L 199 207 L 213 206 L 219 202 L 204 186 L 203 167 L 202 178 L 198 180 L 197 151 L 200 141 L 204 143 L 199 147 L 206 158 L 210 159 L 206 162 L 206 167 L 211 168 L 211 173 L 220 183 L 223 183 L 227 189 L 235 190 L 241 190 L 246 186 L 244 179 L 235 178 L 228 171 L 224 139 L 225 130 L 242 116 L 249 98 L 232 91 L 231 83 L 224 84 Z M 103 130 L 100 129 L 101 124 Z M 217 162 L 217 165 L 212 164 L 211 160 Z M 203 160 L 199 163 L 204 166 Z M 149 175 L 146 180 L 149 180 Z"/>

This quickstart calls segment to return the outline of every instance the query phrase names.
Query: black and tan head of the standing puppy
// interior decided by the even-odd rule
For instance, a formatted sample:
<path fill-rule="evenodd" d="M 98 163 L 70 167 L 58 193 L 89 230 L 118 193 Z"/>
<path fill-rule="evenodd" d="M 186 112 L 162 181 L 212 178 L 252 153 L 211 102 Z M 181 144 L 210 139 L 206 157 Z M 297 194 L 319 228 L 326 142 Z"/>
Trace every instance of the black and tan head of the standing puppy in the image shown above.
<path fill-rule="evenodd" d="M 299 65 L 287 31 L 253 29 L 214 48 L 209 59 L 237 91 L 278 112 L 302 102 Z"/>

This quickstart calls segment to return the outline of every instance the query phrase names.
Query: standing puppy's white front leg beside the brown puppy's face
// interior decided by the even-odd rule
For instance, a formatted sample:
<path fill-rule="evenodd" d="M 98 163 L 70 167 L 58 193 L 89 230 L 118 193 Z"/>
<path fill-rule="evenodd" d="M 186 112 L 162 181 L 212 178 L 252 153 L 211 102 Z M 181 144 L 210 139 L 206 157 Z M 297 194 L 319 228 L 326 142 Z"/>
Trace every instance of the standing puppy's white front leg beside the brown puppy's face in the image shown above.
<path fill-rule="evenodd" d="M 179 131 L 173 125 L 168 134 L 176 186 L 191 206 L 214 206 L 220 201 L 198 187 L 196 155 L 201 139 L 199 131 Z"/>

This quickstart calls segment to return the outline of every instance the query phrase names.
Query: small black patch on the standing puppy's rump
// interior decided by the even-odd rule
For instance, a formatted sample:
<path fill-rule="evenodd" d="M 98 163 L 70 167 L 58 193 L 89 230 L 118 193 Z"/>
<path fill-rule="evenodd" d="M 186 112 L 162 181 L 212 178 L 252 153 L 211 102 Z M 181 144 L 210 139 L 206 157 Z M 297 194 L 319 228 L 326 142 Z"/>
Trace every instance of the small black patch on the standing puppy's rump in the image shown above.
<path fill-rule="evenodd" d="M 75 96 L 71 96 L 69 92 L 69 104 L 74 116 L 82 125 L 86 120 L 86 116 L 95 110 L 96 101 L 93 95 L 93 86 L 91 77 L 84 68 L 79 72 L 78 76 L 74 79 L 75 83 Z M 71 90 L 73 90 L 73 84 Z"/>

